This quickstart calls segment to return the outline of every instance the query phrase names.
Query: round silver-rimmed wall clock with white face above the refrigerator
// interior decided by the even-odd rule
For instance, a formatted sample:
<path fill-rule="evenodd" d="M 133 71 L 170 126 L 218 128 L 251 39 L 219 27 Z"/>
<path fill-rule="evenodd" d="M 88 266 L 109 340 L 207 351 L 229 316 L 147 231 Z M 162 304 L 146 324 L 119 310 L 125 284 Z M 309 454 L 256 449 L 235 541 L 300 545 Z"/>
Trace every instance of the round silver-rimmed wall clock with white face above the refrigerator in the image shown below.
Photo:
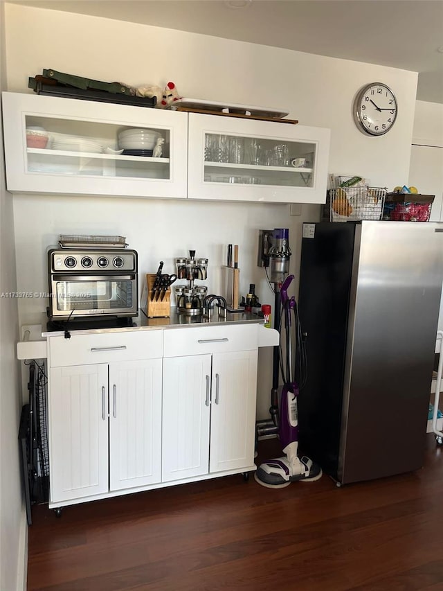
<path fill-rule="evenodd" d="M 381 82 L 365 86 L 354 102 L 354 119 L 361 132 L 378 136 L 386 134 L 397 117 L 397 99 Z"/>

